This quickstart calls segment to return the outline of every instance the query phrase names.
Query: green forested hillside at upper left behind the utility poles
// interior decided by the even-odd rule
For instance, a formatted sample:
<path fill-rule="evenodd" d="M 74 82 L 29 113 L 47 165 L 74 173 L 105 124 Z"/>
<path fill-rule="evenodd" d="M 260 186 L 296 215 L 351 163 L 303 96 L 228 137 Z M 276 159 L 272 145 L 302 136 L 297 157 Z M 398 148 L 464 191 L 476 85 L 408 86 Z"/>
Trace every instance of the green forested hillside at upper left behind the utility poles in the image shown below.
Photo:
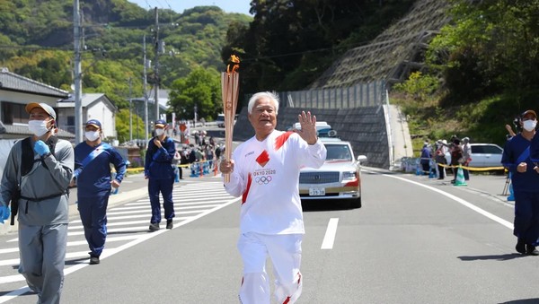
<path fill-rule="evenodd" d="M 147 59 L 155 58 L 154 10 L 126 0 L 81 1 L 84 28 L 84 92 L 105 92 L 120 109 L 142 95 L 143 37 Z M 159 10 L 159 57 L 163 87 L 202 67 L 224 70 L 221 48 L 231 22 L 252 18 L 200 6 L 184 13 Z M 73 70 L 73 1 L 0 0 L 0 65 L 31 79 L 70 91 Z M 154 82 L 152 69 L 148 83 Z"/>

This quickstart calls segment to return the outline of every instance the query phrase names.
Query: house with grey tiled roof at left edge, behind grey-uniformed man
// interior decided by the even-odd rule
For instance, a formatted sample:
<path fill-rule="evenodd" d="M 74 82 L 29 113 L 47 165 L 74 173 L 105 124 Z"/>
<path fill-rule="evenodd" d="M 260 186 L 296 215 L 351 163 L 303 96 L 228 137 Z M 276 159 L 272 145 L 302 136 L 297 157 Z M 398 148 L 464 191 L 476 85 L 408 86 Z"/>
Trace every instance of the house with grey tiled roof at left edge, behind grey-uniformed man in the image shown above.
<path fill-rule="evenodd" d="M 0 67 L 0 139 L 20 139 L 31 135 L 28 113 L 30 102 L 44 102 L 57 111 L 57 101 L 65 100 L 69 92 L 40 83 Z M 58 117 L 61 119 L 60 117 Z M 73 141 L 75 135 L 61 127 L 57 136 Z"/>

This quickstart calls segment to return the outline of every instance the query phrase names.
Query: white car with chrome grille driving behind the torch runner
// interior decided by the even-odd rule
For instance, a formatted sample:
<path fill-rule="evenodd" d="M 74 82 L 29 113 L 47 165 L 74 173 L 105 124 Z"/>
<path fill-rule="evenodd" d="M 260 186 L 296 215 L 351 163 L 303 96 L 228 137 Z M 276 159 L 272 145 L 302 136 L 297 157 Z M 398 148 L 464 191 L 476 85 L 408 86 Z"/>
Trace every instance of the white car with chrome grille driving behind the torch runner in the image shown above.
<path fill-rule="evenodd" d="M 356 159 L 349 142 L 339 138 L 323 138 L 328 153 L 320 169 L 303 168 L 299 173 L 299 195 L 302 201 L 343 199 L 353 208 L 361 207 L 361 161 Z"/>

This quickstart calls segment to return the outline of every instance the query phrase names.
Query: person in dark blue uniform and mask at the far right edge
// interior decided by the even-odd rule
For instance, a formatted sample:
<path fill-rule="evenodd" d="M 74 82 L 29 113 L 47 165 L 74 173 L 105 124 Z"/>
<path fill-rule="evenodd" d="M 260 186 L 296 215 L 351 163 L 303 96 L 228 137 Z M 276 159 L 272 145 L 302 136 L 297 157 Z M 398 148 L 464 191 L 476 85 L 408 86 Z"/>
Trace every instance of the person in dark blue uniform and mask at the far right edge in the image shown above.
<path fill-rule="evenodd" d="M 515 248 L 523 255 L 538 256 L 535 242 L 539 238 L 539 169 L 530 158 L 537 124 L 535 111 L 524 112 L 520 124 L 522 132 L 507 141 L 501 163 L 511 172 L 515 195 Z M 537 152 L 534 155 L 536 157 Z"/>

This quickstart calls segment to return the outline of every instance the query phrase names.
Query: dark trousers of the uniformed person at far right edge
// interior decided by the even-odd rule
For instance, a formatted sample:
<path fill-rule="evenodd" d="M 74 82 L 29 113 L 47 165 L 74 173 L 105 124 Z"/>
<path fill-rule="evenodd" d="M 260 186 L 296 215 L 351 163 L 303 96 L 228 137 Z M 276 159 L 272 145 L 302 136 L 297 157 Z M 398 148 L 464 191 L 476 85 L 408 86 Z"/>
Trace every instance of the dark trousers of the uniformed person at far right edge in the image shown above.
<path fill-rule="evenodd" d="M 515 230 L 518 239 L 535 244 L 539 239 L 539 193 L 515 190 Z"/>

